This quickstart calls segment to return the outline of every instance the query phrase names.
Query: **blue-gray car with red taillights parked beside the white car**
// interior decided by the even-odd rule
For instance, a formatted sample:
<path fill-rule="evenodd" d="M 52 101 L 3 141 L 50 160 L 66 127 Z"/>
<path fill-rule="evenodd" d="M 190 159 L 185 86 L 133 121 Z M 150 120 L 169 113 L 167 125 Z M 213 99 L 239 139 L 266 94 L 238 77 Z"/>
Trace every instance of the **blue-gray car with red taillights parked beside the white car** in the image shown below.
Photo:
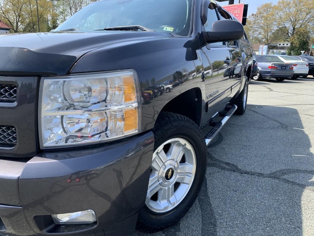
<path fill-rule="evenodd" d="M 284 81 L 293 76 L 293 64 L 284 63 L 276 55 L 255 55 L 257 61 L 257 75 L 253 80 L 260 81 L 263 78 L 275 78 L 277 81 Z"/>

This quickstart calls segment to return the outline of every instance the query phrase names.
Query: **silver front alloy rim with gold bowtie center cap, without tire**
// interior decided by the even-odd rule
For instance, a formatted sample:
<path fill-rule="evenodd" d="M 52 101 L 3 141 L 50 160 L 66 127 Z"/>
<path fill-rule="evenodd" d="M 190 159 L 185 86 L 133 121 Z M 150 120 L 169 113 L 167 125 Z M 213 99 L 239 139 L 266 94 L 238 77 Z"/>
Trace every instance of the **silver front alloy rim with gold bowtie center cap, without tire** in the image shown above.
<path fill-rule="evenodd" d="M 183 138 L 172 138 L 153 154 L 146 206 L 164 213 L 175 208 L 189 192 L 196 170 L 192 145 Z"/>

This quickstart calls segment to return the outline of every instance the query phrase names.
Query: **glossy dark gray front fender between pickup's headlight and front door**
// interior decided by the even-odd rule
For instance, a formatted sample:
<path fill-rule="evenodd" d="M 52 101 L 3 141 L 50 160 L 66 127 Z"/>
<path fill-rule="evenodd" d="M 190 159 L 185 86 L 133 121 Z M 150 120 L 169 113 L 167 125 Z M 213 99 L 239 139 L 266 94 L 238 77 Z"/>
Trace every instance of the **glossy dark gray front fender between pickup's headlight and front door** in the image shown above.
<path fill-rule="evenodd" d="M 134 69 L 138 74 L 141 89 L 163 83 L 171 84 L 177 79 L 185 80 L 185 83 L 173 88 L 170 93 L 164 92 L 143 104 L 144 132 L 154 127 L 163 107 L 181 93 L 197 87 L 201 89 L 202 100 L 205 100 L 205 84 L 201 77 L 198 78 L 198 74 L 195 74 L 195 71 L 203 68 L 201 53 L 195 43 L 198 42 L 197 37 L 169 35 L 164 38 L 123 42 L 99 48 L 81 57 L 73 66 L 71 73 Z"/>

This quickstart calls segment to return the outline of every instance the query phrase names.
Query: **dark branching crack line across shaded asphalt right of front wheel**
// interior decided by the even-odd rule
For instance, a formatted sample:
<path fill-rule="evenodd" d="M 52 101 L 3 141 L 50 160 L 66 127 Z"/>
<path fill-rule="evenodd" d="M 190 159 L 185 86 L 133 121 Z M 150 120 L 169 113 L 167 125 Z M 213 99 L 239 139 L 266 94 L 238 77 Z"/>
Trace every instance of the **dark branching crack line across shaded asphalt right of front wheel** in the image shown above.
<path fill-rule="evenodd" d="M 292 185 L 295 185 L 295 186 L 303 188 L 303 189 L 306 187 L 314 187 L 314 184 L 313 185 L 303 184 L 303 183 L 299 183 L 299 182 L 289 180 L 289 179 L 283 177 L 285 175 L 300 174 L 300 173 L 314 175 L 314 170 L 282 169 L 282 170 L 273 171 L 271 173 L 266 174 L 266 173 L 262 173 L 262 172 L 249 171 L 249 170 L 242 169 L 233 163 L 219 160 L 210 154 L 209 154 L 209 161 L 208 161 L 207 166 L 208 167 L 214 167 L 214 168 L 217 168 L 217 169 L 222 170 L 222 171 L 230 171 L 230 172 L 235 172 L 235 173 L 244 174 L 244 175 L 251 175 L 251 176 L 256 176 L 256 177 L 279 180 L 281 182 L 284 182 L 287 184 L 292 184 Z M 309 190 L 314 192 L 314 189 L 309 189 Z"/>

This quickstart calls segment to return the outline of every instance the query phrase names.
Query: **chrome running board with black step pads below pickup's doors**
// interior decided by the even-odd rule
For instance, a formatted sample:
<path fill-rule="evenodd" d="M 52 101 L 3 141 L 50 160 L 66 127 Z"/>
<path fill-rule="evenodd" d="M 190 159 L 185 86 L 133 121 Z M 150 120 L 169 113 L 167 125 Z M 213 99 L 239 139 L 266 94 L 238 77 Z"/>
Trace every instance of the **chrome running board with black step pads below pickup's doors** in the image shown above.
<path fill-rule="evenodd" d="M 215 138 L 215 136 L 219 133 L 222 127 L 226 124 L 226 122 L 230 119 L 230 117 L 235 113 L 237 110 L 237 106 L 234 104 L 228 104 L 224 110 L 219 111 L 218 114 L 215 117 L 222 117 L 221 121 L 219 122 L 210 122 L 208 125 L 212 126 L 212 129 L 210 132 L 205 135 L 205 143 L 206 146 L 208 146 L 211 141 Z M 215 118 L 214 117 L 214 118 Z"/>

